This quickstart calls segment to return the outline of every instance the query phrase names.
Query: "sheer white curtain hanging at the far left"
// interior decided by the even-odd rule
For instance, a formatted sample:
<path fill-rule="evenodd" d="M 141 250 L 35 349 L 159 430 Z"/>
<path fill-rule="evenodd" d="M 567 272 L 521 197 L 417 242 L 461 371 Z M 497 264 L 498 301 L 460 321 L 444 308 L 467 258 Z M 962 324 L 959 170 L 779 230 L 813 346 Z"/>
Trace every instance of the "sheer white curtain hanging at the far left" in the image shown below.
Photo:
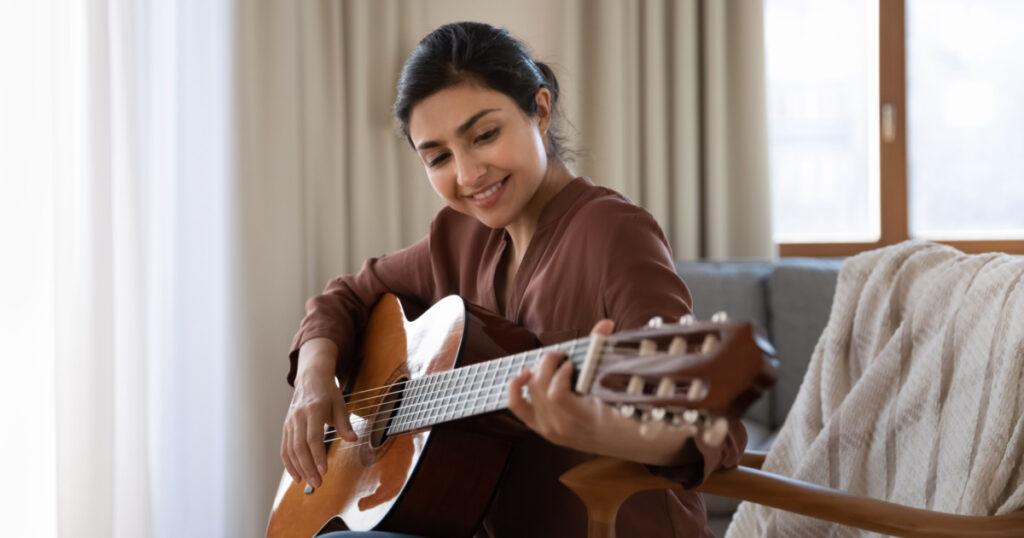
<path fill-rule="evenodd" d="M 20 326 L 38 340 L 10 359 L 37 368 L 16 379 L 30 388 L 5 402 L 23 408 L 5 405 L 4 425 L 41 432 L 15 460 L 40 494 L 23 488 L 4 521 L 31 528 L 26 536 L 257 534 L 258 522 L 239 532 L 230 483 L 250 466 L 237 450 L 241 414 L 229 415 L 247 365 L 232 315 L 244 265 L 231 203 L 232 6 L 32 4 L 4 8 L 4 28 L 35 26 L 4 43 L 28 58 L 5 70 L 4 86 L 30 89 L 4 94 L 5 111 L 29 109 L 24 124 L 0 129 L 15 140 L 29 126 L 45 131 L 40 154 L 14 155 L 19 173 L 4 166 L 3 182 L 5 203 L 38 195 L 17 199 L 31 219 L 5 232 L 36 250 L 4 245 L 5 259 L 38 271 L 3 280 L 25 279 L 38 293 L 23 298 L 41 306 L 5 304 L 31 318 Z M 24 100 L 33 93 L 43 96 Z M 33 419 L 8 418 L 16 413 Z M 37 513 L 49 518 L 28 520 Z"/>

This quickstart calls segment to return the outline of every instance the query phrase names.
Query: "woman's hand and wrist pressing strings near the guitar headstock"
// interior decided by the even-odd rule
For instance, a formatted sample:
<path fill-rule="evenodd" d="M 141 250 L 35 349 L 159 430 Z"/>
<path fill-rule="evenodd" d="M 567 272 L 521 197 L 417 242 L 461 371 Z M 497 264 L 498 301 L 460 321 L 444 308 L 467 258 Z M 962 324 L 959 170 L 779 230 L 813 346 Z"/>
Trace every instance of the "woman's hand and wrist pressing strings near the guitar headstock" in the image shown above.
<path fill-rule="evenodd" d="M 607 336 L 611 330 L 611 320 L 602 320 L 591 334 Z M 523 370 L 512 380 L 509 409 L 515 416 L 548 441 L 581 452 L 656 465 L 686 462 L 683 447 L 694 434 L 692 427 L 651 423 L 641 432 L 638 421 L 596 398 L 573 392 L 572 363 L 564 358 L 563 354 L 547 354 L 534 370 Z M 523 387 L 529 392 L 528 401 Z"/>

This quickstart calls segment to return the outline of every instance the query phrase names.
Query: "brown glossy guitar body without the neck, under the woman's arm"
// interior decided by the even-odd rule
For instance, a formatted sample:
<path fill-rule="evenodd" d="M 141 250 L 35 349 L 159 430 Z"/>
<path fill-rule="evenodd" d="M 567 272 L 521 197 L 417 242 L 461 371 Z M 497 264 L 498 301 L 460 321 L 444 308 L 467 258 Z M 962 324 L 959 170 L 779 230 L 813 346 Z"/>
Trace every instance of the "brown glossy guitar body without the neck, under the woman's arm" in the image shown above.
<path fill-rule="evenodd" d="M 328 471 L 315 490 L 284 474 L 267 536 L 309 538 L 344 529 L 472 535 L 498 487 L 510 442 L 474 432 L 466 420 L 382 436 L 391 416 L 388 402 L 397 396 L 386 387 L 536 345 L 527 331 L 456 296 L 415 321 L 395 296 L 384 296 L 369 320 L 358 372 L 346 391 L 353 395 L 349 411 L 359 441 L 330 444 Z"/>

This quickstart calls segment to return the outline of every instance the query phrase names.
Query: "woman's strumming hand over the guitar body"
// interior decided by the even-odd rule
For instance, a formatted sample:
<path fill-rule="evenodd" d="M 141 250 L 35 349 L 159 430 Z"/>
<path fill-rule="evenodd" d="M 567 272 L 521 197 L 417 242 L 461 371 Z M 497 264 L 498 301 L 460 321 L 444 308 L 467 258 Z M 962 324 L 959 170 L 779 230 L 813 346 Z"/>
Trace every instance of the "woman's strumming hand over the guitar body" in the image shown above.
<path fill-rule="evenodd" d="M 295 392 L 285 417 L 281 459 L 292 480 L 321 486 L 327 472 L 324 424 L 348 442 L 358 440 L 348 421 L 348 409 L 335 381 L 338 346 L 327 338 L 313 338 L 299 349 Z"/>

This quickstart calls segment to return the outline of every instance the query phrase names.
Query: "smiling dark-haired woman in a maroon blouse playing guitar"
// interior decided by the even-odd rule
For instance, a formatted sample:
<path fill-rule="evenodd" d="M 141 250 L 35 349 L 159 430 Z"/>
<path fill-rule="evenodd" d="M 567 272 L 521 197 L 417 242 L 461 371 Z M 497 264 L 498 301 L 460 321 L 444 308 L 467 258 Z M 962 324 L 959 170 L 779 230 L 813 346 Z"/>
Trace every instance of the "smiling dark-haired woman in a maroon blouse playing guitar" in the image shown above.
<path fill-rule="evenodd" d="M 441 27 L 407 60 L 394 113 L 447 207 L 428 237 L 368 260 L 307 302 L 293 342 L 295 394 L 282 443 L 295 481 L 319 486 L 325 423 L 356 441 L 335 376 L 348 375 L 352 342 L 383 293 L 425 304 L 459 294 L 529 329 L 545 345 L 689 313 L 689 292 L 654 219 L 575 177 L 562 160 L 553 129 L 558 96 L 551 70 L 487 25 Z M 585 454 L 659 466 L 690 487 L 736 464 L 745 444 L 738 421 L 718 448 L 683 429 L 643 439 L 634 420 L 574 395 L 571 365 L 559 362 L 549 355 L 512 382 L 509 408 L 540 437 L 516 445 L 480 535 L 585 536 L 583 505 L 557 482 Z M 696 493 L 651 491 L 624 504 L 618 530 L 710 535 L 705 521 Z"/>

